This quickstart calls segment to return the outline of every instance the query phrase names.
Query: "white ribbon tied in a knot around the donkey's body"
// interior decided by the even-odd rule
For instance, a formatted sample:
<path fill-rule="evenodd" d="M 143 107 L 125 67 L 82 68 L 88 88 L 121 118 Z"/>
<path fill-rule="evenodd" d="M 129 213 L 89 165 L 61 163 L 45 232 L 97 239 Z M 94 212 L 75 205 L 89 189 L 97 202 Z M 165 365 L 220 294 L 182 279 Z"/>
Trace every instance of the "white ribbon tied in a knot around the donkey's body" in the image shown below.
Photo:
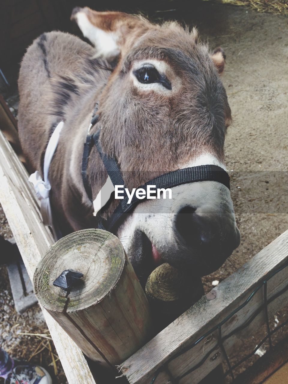
<path fill-rule="evenodd" d="M 36 172 L 31 174 L 28 179 L 33 184 L 35 188 L 36 196 L 40 200 L 43 224 L 49 225 L 50 227 L 52 227 L 53 221 L 52 221 L 51 205 L 49 200 L 49 192 L 51 189 L 51 185 L 48 179 L 48 172 L 49 172 L 49 167 L 50 167 L 52 157 L 58 145 L 60 132 L 63 128 L 63 124 L 64 124 L 63 121 L 60 121 L 60 123 L 55 128 L 48 142 L 48 146 L 46 148 L 45 157 L 44 157 L 44 165 L 43 165 L 44 180 L 42 180 L 41 174 L 40 172 L 38 172 L 38 170 L 36 170 Z"/>

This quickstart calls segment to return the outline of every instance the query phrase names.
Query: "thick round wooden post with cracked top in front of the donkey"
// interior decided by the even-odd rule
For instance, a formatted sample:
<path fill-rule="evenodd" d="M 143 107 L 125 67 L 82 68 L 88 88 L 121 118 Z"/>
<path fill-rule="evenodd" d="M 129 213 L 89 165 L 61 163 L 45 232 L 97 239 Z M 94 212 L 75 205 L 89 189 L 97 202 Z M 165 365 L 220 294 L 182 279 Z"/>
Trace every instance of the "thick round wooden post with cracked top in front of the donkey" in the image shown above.
<path fill-rule="evenodd" d="M 53 286 L 64 270 L 83 273 L 65 292 Z M 34 275 L 36 297 L 93 361 L 120 364 L 148 341 L 148 301 L 119 239 L 87 229 L 56 242 Z"/>

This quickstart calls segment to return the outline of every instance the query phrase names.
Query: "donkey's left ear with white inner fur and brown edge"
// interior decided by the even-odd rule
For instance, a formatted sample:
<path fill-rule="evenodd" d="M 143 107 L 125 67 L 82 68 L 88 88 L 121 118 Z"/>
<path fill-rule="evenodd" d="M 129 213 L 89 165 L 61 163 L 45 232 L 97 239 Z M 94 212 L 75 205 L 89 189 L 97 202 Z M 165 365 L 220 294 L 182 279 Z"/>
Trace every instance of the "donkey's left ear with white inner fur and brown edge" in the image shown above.
<path fill-rule="evenodd" d="M 113 60 L 121 53 L 127 36 L 143 26 L 144 20 L 123 12 L 97 12 L 76 7 L 71 20 L 75 20 L 84 37 L 96 47 L 96 56 Z"/>

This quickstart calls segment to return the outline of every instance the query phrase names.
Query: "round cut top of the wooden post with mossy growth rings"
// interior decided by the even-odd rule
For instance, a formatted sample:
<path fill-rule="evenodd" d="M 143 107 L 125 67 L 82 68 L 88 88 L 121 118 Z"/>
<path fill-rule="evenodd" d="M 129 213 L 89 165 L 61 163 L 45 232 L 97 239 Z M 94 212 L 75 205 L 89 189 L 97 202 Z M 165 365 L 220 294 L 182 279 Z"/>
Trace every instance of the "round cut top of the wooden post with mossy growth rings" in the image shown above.
<path fill-rule="evenodd" d="M 46 253 L 34 275 L 35 294 L 48 310 L 63 311 L 67 292 L 53 282 L 65 270 L 83 273 L 69 291 L 67 312 L 101 301 L 114 288 L 125 263 L 119 240 L 103 230 L 81 230 L 61 238 Z"/>

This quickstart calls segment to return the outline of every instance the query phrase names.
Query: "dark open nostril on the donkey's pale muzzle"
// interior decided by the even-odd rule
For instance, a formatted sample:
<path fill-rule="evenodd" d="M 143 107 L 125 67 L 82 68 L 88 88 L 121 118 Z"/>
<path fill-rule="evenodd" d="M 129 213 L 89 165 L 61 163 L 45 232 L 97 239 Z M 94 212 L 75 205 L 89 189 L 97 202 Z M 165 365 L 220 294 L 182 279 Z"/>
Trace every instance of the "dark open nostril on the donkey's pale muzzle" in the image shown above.
<path fill-rule="evenodd" d="M 212 247 L 215 240 L 215 228 L 205 217 L 197 214 L 194 207 L 184 207 L 177 213 L 174 230 L 180 242 L 186 246 Z"/>

